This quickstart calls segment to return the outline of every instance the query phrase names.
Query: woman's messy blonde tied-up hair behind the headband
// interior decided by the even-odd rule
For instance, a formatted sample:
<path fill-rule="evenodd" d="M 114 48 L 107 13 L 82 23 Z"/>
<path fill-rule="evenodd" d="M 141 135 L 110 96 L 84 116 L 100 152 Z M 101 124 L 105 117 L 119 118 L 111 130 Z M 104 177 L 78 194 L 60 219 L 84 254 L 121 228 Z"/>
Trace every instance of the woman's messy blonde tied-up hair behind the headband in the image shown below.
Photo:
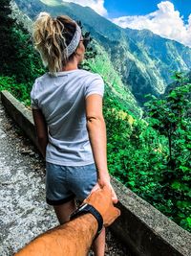
<path fill-rule="evenodd" d="M 67 58 L 64 50 L 71 42 L 75 29 L 75 23 L 69 16 L 53 18 L 47 12 L 40 12 L 37 16 L 33 24 L 33 44 L 52 75 L 74 58 L 74 54 Z"/>

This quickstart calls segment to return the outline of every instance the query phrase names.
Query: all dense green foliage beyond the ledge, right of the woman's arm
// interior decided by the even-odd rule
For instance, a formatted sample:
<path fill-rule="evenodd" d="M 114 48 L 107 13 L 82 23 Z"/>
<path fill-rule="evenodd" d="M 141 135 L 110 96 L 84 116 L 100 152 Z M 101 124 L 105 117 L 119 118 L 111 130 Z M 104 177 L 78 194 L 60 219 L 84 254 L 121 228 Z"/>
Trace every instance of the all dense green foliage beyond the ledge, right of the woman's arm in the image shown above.
<path fill-rule="evenodd" d="M 104 100 L 110 173 L 188 231 L 190 86 L 181 77 L 165 98 L 151 97 L 149 117 L 142 120 L 131 117 L 110 91 Z"/>

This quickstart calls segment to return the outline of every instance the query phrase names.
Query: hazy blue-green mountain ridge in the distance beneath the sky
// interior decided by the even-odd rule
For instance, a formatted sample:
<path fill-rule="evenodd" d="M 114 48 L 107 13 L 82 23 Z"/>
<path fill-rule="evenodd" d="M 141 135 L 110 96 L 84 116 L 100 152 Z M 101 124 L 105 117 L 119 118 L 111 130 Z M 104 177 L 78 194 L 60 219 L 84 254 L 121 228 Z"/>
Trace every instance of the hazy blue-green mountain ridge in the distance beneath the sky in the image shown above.
<path fill-rule="evenodd" d="M 54 16 L 66 14 L 80 20 L 85 30 L 107 52 L 121 81 L 140 105 L 145 101 L 145 94 L 159 96 L 164 93 L 173 71 L 189 71 L 191 68 L 189 47 L 150 31 L 122 29 L 89 7 L 61 0 L 15 2 L 32 19 L 39 12 L 50 12 Z"/>

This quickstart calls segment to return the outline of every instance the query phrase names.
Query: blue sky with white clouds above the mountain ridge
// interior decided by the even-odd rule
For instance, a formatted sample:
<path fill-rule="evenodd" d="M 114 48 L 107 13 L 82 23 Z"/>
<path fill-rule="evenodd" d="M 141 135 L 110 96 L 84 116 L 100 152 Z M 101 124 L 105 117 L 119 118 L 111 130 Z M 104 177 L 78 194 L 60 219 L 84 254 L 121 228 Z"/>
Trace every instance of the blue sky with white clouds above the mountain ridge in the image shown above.
<path fill-rule="evenodd" d="M 191 47 L 191 0 L 64 0 L 89 6 L 122 28 L 148 29 Z"/>

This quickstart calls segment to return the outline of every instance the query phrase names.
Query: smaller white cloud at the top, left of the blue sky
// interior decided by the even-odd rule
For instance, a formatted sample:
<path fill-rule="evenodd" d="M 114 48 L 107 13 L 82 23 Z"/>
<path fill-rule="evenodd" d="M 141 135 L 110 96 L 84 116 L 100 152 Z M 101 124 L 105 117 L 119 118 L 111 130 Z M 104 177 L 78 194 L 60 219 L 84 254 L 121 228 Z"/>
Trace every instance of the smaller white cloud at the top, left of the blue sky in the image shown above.
<path fill-rule="evenodd" d="M 83 7 L 88 6 L 102 16 L 108 16 L 108 12 L 104 8 L 104 0 L 63 0 L 63 2 L 73 2 Z"/>

